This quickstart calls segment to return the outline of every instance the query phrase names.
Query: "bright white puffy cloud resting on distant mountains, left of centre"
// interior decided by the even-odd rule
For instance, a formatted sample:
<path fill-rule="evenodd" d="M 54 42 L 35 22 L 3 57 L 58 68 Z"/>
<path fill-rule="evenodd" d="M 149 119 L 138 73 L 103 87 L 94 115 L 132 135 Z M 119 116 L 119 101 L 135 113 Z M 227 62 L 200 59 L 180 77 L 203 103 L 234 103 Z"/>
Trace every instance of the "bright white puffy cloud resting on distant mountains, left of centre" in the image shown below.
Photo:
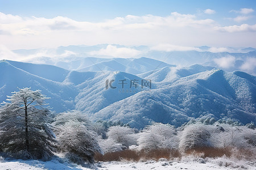
<path fill-rule="evenodd" d="M 117 48 L 114 45 L 108 45 L 106 48 L 102 48 L 98 51 L 89 52 L 90 55 L 100 55 L 100 56 L 113 56 L 113 57 L 136 57 L 142 52 L 139 50 L 131 49 L 131 48 Z"/>

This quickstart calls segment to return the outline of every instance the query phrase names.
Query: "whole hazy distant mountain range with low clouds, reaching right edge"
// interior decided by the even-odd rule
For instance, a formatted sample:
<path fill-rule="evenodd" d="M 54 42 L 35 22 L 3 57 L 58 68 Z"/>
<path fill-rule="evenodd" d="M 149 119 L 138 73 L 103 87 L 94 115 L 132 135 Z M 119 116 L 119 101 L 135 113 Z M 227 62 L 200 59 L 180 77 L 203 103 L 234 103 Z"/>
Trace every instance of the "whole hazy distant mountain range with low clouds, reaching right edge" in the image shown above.
<path fill-rule="evenodd" d="M 150 46 L 124 46 L 100 44 L 93 46 L 70 45 L 56 49 L 13 50 L 19 56 L 30 56 L 24 62 L 55 65 L 67 70 L 76 71 L 125 71 L 138 74 L 155 70 L 160 61 L 163 65 L 180 67 L 200 64 L 218 67 L 225 71 L 244 71 L 256 75 L 255 48 L 212 48 L 198 46 L 196 50 L 158 49 Z M 133 58 L 131 58 L 131 56 Z M 145 61 L 151 64 L 140 66 L 137 58 L 147 57 Z M 154 62 L 150 59 L 156 59 Z M 153 65 L 152 65 L 153 63 Z"/>

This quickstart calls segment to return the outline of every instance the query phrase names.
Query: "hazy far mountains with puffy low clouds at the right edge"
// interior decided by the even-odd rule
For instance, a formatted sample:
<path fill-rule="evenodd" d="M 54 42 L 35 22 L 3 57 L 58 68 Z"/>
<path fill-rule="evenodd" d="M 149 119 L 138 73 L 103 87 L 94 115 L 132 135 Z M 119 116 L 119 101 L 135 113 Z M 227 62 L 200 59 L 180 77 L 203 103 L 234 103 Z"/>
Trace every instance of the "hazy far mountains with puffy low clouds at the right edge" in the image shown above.
<path fill-rule="evenodd" d="M 199 52 L 191 51 L 148 51 L 145 56 L 149 58 L 158 57 L 160 61 L 169 64 L 189 66 L 200 64 L 204 66 L 220 67 L 225 71 L 246 71 L 249 74 L 256 75 L 256 51 L 247 53 L 230 53 L 230 52 Z"/>

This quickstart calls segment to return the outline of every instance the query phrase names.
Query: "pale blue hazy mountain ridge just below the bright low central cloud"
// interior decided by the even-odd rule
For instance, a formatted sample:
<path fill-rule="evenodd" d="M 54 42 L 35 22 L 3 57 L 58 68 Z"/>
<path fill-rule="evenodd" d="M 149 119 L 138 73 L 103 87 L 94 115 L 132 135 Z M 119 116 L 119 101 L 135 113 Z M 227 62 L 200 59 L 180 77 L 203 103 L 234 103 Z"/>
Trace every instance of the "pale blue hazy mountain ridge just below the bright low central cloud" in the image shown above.
<path fill-rule="evenodd" d="M 125 71 L 126 73 L 139 74 L 169 65 L 156 59 L 141 58 L 95 58 L 95 57 L 64 57 L 49 58 L 39 57 L 27 59 L 30 63 L 46 63 L 67 70 L 76 71 Z"/>

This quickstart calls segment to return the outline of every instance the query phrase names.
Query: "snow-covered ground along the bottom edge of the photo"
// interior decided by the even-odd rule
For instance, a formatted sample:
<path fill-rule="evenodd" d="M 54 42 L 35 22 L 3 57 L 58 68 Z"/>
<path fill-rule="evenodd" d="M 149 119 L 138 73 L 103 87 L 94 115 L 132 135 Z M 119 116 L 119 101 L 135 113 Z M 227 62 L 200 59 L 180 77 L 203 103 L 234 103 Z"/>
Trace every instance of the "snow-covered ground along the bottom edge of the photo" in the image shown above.
<path fill-rule="evenodd" d="M 207 161 L 207 162 L 205 162 Z M 57 160 L 41 162 L 38 160 L 1 160 L 0 169 L 89 169 L 76 164 L 59 163 Z M 256 162 L 231 161 L 225 158 L 182 160 L 169 162 L 154 160 L 147 162 L 99 162 L 94 169 L 119 170 L 119 169 L 256 169 Z"/>

